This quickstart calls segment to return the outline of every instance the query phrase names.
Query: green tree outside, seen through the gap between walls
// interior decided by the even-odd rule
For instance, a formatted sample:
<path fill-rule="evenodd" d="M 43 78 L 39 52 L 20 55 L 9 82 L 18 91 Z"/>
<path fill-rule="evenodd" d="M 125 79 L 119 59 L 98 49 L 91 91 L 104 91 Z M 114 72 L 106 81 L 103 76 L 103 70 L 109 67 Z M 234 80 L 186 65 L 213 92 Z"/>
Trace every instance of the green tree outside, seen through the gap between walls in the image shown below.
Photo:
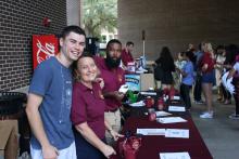
<path fill-rule="evenodd" d="M 84 25 L 89 36 L 113 32 L 117 26 L 117 0 L 84 0 Z"/>

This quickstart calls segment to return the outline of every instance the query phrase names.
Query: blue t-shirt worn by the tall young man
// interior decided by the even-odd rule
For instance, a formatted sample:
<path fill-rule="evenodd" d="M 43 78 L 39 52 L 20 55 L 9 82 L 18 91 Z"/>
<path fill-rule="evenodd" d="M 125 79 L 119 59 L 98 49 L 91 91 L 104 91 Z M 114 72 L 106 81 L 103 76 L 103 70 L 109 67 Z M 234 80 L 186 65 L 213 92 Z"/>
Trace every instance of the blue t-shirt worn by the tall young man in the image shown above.
<path fill-rule="evenodd" d="M 72 71 L 55 57 L 42 62 L 35 69 L 29 93 L 43 97 L 39 107 L 47 137 L 58 149 L 67 148 L 74 141 L 70 119 L 72 107 Z M 37 138 L 32 136 L 33 148 L 40 149 Z"/>

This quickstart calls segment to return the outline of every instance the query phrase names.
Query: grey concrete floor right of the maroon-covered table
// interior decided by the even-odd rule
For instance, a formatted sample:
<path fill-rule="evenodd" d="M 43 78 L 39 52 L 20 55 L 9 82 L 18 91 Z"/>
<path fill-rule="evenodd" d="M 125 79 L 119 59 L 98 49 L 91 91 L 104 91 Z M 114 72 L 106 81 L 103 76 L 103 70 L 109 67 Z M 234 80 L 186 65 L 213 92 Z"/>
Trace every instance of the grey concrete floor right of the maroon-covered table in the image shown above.
<path fill-rule="evenodd" d="M 235 111 L 235 103 L 224 105 L 215 100 L 213 119 L 199 118 L 205 111 L 205 105 L 192 102 L 193 121 L 214 159 L 239 159 L 239 120 L 228 118 Z"/>

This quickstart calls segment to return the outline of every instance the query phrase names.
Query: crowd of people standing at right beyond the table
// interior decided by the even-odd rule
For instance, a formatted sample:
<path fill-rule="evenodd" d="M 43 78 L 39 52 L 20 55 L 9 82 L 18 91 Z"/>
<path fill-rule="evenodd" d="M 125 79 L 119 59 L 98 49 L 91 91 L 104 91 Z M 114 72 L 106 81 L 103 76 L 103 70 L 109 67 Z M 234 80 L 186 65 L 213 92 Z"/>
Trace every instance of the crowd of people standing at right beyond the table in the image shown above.
<path fill-rule="evenodd" d="M 231 96 L 235 97 L 236 111 L 229 118 L 239 119 L 239 50 L 236 44 L 218 45 L 213 49 L 210 42 L 201 42 L 198 50 L 193 44 L 189 44 L 189 48 L 179 52 L 177 59 L 173 61 L 169 49 L 164 47 L 155 61 L 155 67 L 161 67 L 162 72 L 159 72 L 159 68 L 154 69 L 156 70 L 154 74 L 161 76 L 156 79 L 161 81 L 161 89 L 175 87 L 180 90 L 180 96 L 189 110 L 190 90 L 193 89 L 194 103 L 206 105 L 206 110 L 200 115 L 200 118 L 213 118 L 213 87 L 216 87 L 218 102 L 228 105 L 231 104 Z M 222 82 L 222 77 L 227 72 L 229 75 L 226 78 L 232 78 L 235 92 L 230 92 Z M 201 94 L 204 95 L 204 101 Z"/>

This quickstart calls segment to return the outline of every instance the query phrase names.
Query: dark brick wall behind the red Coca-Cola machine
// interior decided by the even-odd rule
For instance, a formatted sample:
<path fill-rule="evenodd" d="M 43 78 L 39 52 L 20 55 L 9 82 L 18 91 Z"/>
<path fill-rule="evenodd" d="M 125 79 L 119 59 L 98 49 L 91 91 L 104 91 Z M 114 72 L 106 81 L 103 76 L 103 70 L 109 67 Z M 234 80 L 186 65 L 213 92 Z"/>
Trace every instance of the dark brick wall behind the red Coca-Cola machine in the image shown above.
<path fill-rule="evenodd" d="M 42 26 L 45 16 L 52 21 L 50 27 Z M 29 84 L 32 35 L 58 35 L 65 25 L 65 0 L 0 1 L 0 91 Z"/>

